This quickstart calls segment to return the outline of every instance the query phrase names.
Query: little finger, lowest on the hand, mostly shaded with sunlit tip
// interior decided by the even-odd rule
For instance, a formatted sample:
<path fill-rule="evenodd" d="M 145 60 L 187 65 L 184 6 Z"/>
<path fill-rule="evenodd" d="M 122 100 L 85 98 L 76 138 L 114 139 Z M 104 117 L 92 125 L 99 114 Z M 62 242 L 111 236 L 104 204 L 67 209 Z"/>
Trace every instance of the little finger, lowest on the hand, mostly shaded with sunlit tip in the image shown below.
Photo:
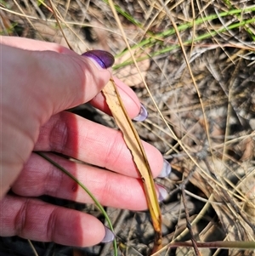
<path fill-rule="evenodd" d="M 101 242 L 105 227 L 86 213 L 39 200 L 5 196 L 0 202 L 0 236 L 88 247 Z"/>

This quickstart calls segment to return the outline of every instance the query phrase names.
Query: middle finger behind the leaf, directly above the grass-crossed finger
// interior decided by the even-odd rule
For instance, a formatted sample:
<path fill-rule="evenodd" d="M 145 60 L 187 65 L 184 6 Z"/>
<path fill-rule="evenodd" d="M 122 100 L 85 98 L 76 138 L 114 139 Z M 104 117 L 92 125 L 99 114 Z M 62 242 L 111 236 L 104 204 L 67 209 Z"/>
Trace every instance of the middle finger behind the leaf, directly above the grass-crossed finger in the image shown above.
<path fill-rule="evenodd" d="M 143 145 L 152 174 L 156 177 L 163 168 L 161 153 L 152 145 L 144 142 Z M 56 151 L 119 174 L 139 178 L 133 156 L 121 132 L 69 112 L 50 118 L 42 127 L 34 150 Z"/>

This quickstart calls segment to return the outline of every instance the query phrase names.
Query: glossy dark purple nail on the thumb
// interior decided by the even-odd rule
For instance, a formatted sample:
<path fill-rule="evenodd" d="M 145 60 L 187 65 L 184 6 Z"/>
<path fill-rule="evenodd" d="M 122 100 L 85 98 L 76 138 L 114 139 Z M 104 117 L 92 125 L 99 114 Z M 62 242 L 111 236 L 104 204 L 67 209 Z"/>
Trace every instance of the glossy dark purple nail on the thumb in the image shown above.
<path fill-rule="evenodd" d="M 111 67 L 114 63 L 113 55 L 104 50 L 91 50 L 82 54 L 82 56 L 95 60 L 104 69 Z"/>

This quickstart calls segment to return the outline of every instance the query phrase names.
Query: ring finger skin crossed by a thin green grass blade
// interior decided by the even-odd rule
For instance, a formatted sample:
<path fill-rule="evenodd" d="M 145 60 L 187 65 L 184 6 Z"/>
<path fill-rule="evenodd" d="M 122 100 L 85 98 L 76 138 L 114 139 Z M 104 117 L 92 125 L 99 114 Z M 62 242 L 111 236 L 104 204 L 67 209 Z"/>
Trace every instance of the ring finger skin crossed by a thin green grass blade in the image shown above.
<path fill-rule="evenodd" d="M 147 208 L 140 179 L 115 174 L 63 157 L 48 155 L 85 185 L 105 206 L 144 210 Z M 12 191 L 20 196 L 48 195 L 76 202 L 94 203 L 86 191 L 42 156 L 33 153 Z"/>

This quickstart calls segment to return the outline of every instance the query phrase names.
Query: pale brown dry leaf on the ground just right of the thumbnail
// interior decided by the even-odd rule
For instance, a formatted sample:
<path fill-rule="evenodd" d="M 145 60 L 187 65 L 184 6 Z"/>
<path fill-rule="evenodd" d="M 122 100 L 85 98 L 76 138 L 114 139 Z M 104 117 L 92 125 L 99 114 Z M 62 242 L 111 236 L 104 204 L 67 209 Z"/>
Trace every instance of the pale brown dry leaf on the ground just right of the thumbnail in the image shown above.
<path fill-rule="evenodd" d="M 130 87 L 144 87 L 142 77 L 146 76 L 146 73 L 150 67 L 150 60 L 148 57 L 149 53 L 149 50 L 146 50 L 146 52 L 141 51 L 140 49 L 133 50 L 133 56 L 136 60 L 139 60 L 140 58 L 146 58 L 145 60 L 141 60 L 138 62 L 140 73 L 135 65 L 126 65 L 122 68 L 117 69 L 114 73 L 117 74 L 118 78 L 120 78 L 122 82 L 125 82 Z M 122 57 L 116 58 L 115 64 L 120 65 L 123 62 L 129 60 L 132 60 L 132 54 L 127 51 L 127 53 L 122 55 Z"/>

